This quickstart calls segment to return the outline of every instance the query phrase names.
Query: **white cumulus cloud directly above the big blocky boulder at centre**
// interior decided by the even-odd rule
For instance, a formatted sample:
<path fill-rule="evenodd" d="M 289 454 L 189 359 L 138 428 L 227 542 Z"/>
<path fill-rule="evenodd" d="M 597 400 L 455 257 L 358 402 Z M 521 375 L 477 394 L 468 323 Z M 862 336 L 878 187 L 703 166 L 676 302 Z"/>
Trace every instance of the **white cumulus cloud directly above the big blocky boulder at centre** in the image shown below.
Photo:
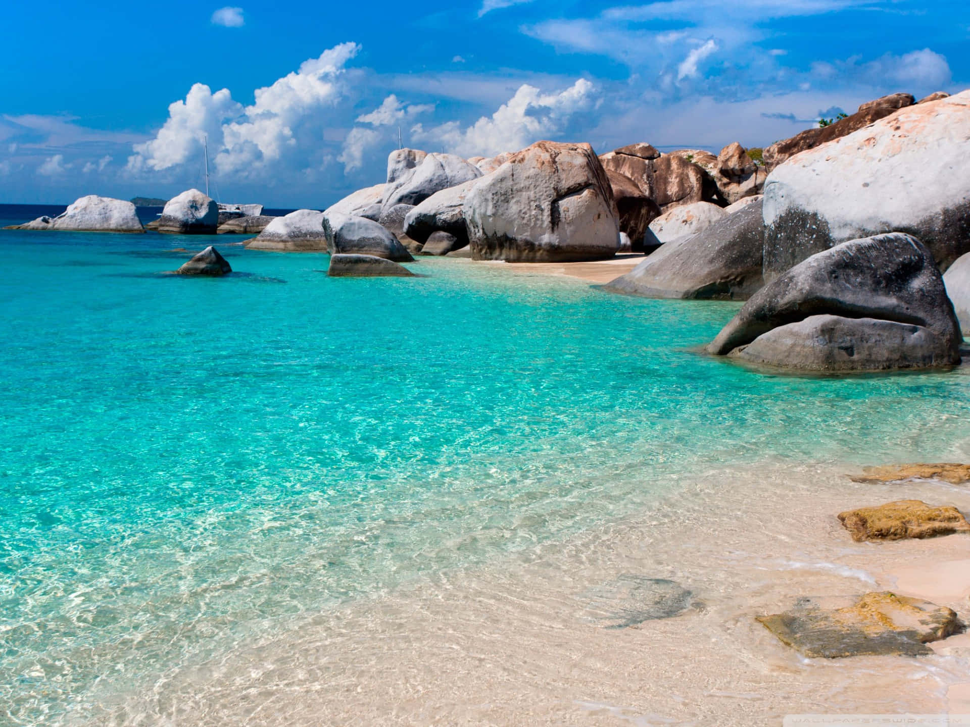
<path fill-rule="evenodd" d="M 587 79 L 549 94 L 523 84 L 498 111 L 482 116 L 469 127 L 463 128 L 457 121 L 428 130 L 417 125 L 411 134 L 419 142 L 443 145 L 456 154 L 492 156 L 567 132 L 576 115 L 592 110 L 597 102 L 597 89 Z"/>

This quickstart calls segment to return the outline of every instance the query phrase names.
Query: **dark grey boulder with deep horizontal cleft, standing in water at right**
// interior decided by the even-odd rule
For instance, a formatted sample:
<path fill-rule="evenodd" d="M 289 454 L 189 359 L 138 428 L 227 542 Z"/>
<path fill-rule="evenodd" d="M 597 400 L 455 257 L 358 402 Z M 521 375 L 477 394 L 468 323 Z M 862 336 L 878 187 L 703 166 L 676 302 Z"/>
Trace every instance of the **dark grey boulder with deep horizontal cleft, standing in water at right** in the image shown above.
<path fill-rule="evenodd" d="M 916 237 L 843 242 L 765 285 L 708 346 L 756 364 L 825 371 L 957 364 L 943 277 Z"/>

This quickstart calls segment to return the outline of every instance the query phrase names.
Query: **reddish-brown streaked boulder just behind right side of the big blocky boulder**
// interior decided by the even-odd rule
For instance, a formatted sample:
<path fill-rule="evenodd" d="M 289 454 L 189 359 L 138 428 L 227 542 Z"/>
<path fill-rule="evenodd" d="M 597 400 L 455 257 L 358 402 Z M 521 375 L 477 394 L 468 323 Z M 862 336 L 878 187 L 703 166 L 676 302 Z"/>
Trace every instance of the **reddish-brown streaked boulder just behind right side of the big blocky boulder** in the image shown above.
<path fill-rule="evenodd" d="M 599 157 L 603 167 L 629 176 L 662 211 L 717 197 L 713 179 L 697 164 L 695 152 L 684 150 L 661 154 L 648 143 L 622 146 Z"/>

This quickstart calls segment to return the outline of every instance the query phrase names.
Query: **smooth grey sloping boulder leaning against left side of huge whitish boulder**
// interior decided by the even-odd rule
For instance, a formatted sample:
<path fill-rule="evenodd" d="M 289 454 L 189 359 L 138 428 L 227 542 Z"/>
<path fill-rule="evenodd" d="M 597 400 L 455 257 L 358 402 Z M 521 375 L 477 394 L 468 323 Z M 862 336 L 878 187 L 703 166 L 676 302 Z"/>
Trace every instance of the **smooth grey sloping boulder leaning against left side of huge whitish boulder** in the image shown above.
<path fill-rule="evenodd" d="M 756 202 L 694 236 L 663 244 L 603 289 L 647 298 L 746 300 L 764 283 L 763 245 L 761 205 Z"/>

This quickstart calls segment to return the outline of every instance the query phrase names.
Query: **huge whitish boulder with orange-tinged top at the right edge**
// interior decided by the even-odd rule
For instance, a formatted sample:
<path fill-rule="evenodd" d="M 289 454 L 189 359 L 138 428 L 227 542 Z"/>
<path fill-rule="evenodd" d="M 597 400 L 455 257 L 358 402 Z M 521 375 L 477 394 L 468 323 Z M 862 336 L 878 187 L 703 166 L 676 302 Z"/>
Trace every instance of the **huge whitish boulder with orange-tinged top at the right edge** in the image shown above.
<path fill-rule="evenodd" d="M 970 252 L 968 155 L 964 91 L 792 157 L 764 185 L 765 279 L 838 242 L 886 232 L 919 237 L 947 269 Z"/>

